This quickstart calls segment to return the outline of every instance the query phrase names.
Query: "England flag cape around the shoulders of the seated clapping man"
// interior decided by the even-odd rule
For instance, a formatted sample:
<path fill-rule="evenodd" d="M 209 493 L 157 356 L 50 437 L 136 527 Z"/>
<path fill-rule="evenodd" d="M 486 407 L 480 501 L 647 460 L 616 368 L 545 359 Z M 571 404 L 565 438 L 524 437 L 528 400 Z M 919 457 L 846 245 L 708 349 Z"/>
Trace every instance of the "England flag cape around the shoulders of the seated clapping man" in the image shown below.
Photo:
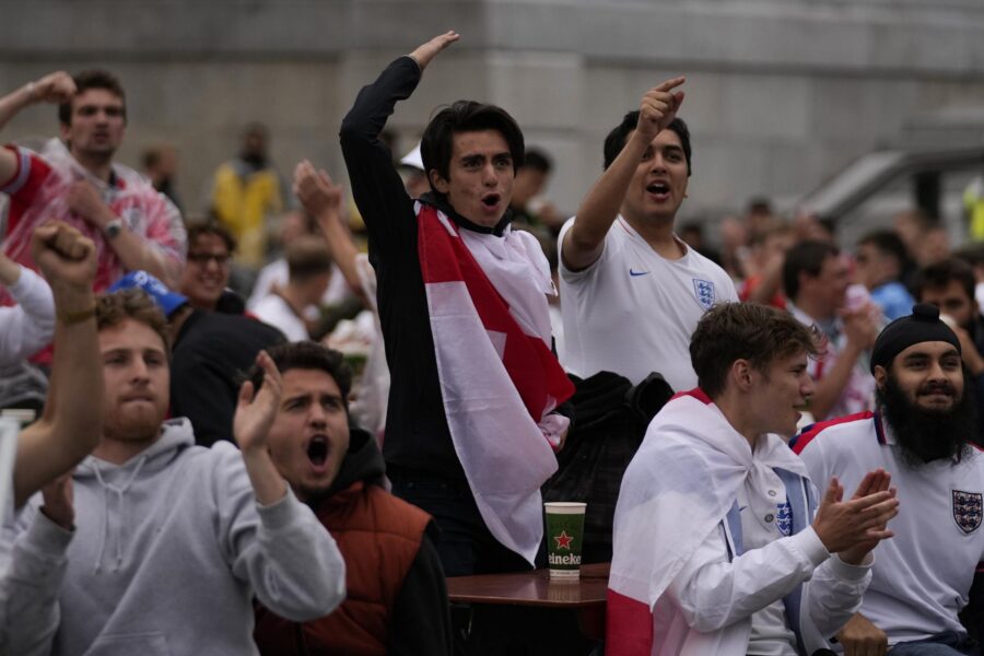
<path fill-rule="evenodd" d="M 659 411 L 625 470 L 616 506 L 606 654 L 746 653 L 748 624 L 699 634 L 664 593 L 718 524 L 731 542 L 731 534 L 740 531 L 739 487 L 770 469 L 803 481 L 804 490 L 809 485 L 806 466 L 785 442 L 764 435 L 752 457 L 748 441 L 700 389 L 678 394 Z M 799 495 L 804 503 L 794 522 L 800 528 L 809 524 L 810 495 Z M 740 553 L 740 534 L 737 542 Z M 796 599 L 798 614 L 799 591 Z M 799 637 L 798 626 L 789 623 Z M 818 635 L 804 637 L 822 644 Z"/>

